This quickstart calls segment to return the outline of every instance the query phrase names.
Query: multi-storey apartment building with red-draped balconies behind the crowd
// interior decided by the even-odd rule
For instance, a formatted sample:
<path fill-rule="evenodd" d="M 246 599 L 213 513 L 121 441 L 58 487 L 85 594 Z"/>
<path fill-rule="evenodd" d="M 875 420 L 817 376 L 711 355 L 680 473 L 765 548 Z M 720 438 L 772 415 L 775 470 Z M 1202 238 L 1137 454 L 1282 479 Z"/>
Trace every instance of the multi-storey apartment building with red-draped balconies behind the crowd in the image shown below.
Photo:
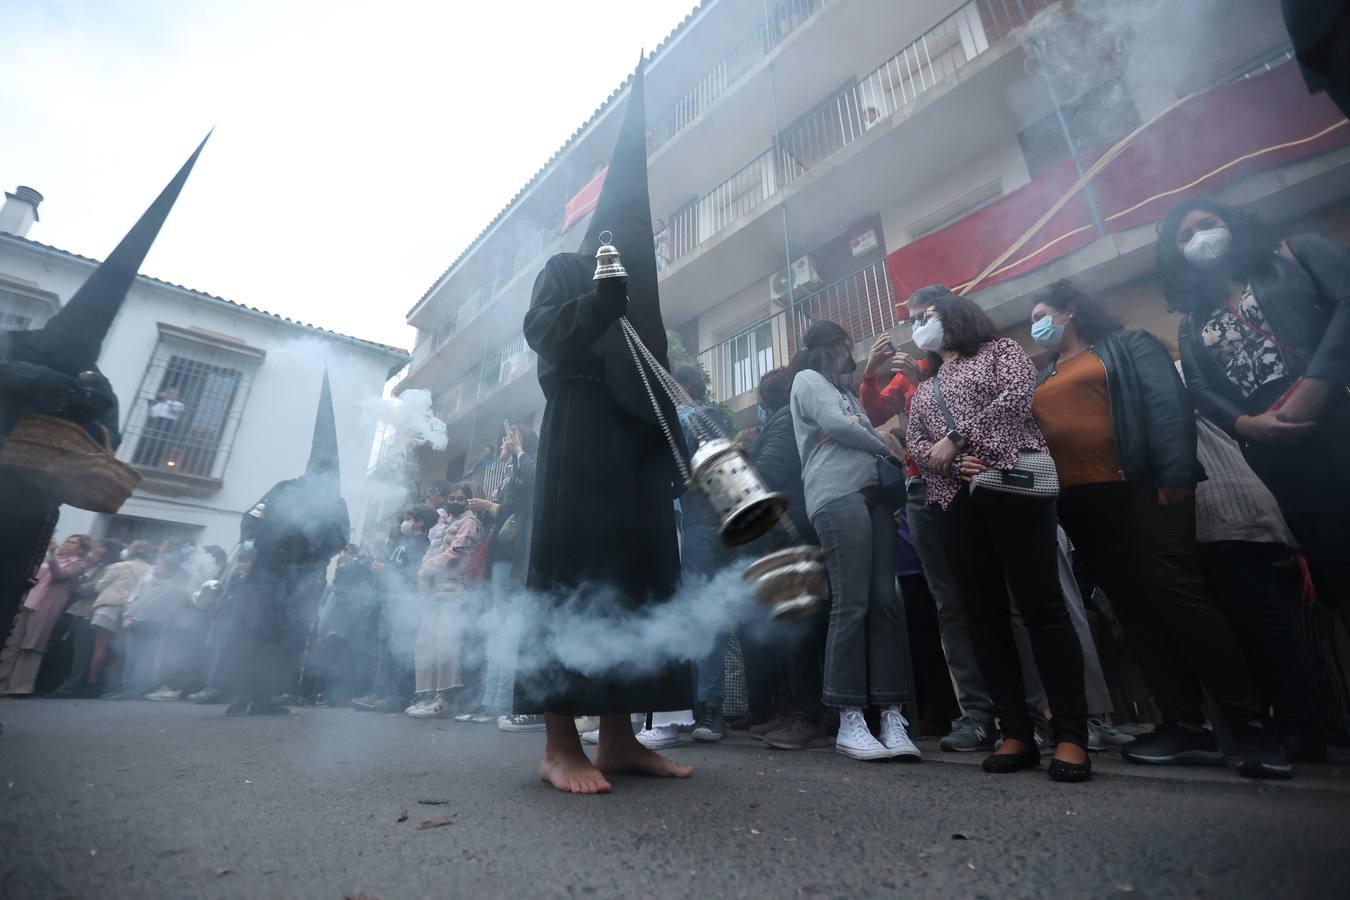
<path fill-rule="evenodd" d="M 451 434 L 424 476 L 543 409 L 521 317 L 585 232 L 625 89 L 409 310 L 401 389 L 431 390 Z M 738 422 L 810 321 L 906 341 L 905 297 L 971 285 L 971 285 L 1007 333 L 1029 343 L 1031 298 L 1072 277 L 1174 343 L 1154 223 L 1192 193 L 1350 239 L 1350 127 L 1268 0 L 709 0 L 652 54 L 647 108 L 666 322 Z"/>

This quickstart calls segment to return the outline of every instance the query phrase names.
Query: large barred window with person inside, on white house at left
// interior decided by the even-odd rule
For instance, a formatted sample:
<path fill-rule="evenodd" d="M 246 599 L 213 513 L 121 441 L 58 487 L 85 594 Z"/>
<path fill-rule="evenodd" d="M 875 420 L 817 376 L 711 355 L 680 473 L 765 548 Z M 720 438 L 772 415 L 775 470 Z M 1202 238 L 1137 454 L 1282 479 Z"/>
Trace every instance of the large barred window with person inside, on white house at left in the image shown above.
<path fill-rule="evenodd" d="M 124 429 L 131 464 L 220 480 L 262 351 L 159 325 Z"/>

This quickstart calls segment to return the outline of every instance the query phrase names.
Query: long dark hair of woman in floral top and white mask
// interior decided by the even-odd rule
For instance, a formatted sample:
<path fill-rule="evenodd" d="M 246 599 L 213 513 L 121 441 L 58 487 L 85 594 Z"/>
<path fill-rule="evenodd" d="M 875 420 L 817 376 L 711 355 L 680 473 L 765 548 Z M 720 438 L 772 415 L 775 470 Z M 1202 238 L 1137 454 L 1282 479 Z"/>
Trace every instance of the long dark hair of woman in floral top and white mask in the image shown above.
<path fill-rule="evenodd" d="M 1185 258 L 1177 247 L 1181 221 L 1195 210 L 1204 210 L 1223 220 L 1233 235 L 1226 266 L 1219 270 L 1200 269 Z M 1224 278 L 1246 281 L 1274 263 L 1274 232 L 1251 213 L 1220 204 L 1208 197 L 1196 197 L 1177 204 L 1158 223 L 1158 243 L 1154 248 L 1158 278 L 1168 309 L 1174 313 L 1208 312 L 1228 296 Z"/>

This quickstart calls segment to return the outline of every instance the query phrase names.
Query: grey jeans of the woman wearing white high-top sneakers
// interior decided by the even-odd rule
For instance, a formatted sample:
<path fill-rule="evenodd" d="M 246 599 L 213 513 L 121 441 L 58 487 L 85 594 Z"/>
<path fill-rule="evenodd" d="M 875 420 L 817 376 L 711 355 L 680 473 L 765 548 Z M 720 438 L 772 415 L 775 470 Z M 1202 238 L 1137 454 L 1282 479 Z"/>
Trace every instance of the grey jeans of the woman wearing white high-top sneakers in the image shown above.
<path fill-rule="evenodd" d="M 895 590 L 895 519 L 860 493 L 822 506 L 811 517 L 830 576 L 825 644 L 828 706 L 909 700 L 909 634 Z"/>

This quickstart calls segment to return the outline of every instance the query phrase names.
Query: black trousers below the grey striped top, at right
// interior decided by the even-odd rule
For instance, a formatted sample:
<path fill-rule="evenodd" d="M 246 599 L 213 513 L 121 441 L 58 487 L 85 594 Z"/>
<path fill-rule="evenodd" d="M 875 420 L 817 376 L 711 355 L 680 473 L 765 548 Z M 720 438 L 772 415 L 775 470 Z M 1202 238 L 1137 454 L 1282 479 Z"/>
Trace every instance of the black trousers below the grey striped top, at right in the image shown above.
<path fill-rule="evenodd" d="M 1297 565 L 1277 544 L 1218 541 L 1199 545 L 1210 596 L 1233 625 L 1276 718 L 1288 731 L 1315 730 L 1316 676 L 1280 565 Z"/>

